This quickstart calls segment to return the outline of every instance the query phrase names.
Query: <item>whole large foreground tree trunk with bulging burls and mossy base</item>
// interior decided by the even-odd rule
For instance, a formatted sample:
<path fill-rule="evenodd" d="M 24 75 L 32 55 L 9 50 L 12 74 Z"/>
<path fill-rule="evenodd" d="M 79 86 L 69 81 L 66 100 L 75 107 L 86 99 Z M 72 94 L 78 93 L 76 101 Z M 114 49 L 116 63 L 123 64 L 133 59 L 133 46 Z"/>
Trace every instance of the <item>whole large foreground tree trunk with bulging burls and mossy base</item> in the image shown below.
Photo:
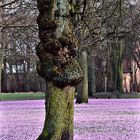
<path fill-rule="evenodd" d="M 79 41 L 70 20 L 72 1 L 38 0 L 37 71 L 47 85 L 46 119 L 37 140 L 73 139 L 73 99 L 82 79 L 76 61 Z"/>

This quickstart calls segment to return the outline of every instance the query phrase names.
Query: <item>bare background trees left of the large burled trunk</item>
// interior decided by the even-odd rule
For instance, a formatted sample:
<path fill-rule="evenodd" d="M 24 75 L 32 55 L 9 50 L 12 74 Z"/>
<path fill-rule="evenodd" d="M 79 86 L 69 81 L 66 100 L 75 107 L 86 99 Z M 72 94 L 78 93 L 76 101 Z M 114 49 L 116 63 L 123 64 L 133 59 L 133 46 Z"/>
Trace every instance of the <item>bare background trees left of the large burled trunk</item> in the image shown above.
<path fill-rule="evenodd" d="M 4 1 L 0 4 L 3 48 L 2 92 L 45 91 L 45 82 L 36 72 L 38 33 L 37 2 Z M 1 19 L 1 18 L 0 18 Z M 4 42 L 4 43 L 3 43 Z M 37 84 L 39 83 L 39 84 Z"/>

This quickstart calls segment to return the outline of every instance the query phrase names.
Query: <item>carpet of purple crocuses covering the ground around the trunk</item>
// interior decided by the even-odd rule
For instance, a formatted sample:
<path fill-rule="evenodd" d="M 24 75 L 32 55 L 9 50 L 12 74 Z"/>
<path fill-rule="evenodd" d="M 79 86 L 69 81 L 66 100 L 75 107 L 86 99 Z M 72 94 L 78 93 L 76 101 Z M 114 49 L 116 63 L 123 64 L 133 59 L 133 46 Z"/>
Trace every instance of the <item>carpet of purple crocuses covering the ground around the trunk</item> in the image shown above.
<path fill-rule="evenodd" d="M 44 100 L 1 101 L 0 140 L 35 140 Z M 74 140 L 140 140 L 140 99 L 89 99 L 75 104 Z"/>

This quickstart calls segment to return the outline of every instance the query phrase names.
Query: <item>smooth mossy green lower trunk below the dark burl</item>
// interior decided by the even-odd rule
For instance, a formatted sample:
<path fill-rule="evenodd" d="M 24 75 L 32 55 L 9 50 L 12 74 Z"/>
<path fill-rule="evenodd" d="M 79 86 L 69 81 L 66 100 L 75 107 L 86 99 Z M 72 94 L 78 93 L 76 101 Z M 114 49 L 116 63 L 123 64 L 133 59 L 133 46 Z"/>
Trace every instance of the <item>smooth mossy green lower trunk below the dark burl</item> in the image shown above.
<path fill-rule="evenodd" d="M 46 94 L 46 119 L 37 140 L 73 140 L 73 114 L 75 88 L 57 88 L 49 83 Z"/>

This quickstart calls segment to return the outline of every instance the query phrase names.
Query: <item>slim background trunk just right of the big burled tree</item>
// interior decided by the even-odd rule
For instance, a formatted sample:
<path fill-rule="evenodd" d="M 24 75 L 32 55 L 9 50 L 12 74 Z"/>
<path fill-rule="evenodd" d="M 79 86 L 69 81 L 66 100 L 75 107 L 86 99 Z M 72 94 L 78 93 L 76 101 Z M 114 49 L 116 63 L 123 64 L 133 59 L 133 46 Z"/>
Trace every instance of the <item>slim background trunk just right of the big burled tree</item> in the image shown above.
<path fill-rule="evenodd" d="M 83 69 L 82 91 L 78 93 L 76 103 L 88 103 L 88 62 L 87 52 L 81 52 L 81 66 Z"/>

